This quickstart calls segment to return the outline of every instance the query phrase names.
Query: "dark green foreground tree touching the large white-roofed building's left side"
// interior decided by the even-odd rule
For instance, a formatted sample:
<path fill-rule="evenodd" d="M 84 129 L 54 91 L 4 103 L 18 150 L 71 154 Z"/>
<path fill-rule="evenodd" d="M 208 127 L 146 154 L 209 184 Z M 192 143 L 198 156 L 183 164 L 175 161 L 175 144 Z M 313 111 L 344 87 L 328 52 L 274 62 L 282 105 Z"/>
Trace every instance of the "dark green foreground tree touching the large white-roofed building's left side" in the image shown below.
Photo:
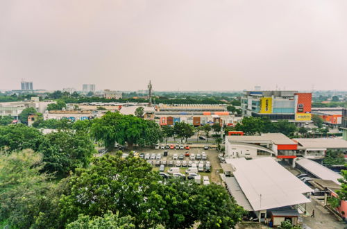
<path fill-rule="evenodd" d="M 194 207 L 201 222 L 198 228 L 234 228 L 246 214 L 224 187 L 215 184 L 198 186 Z"/>

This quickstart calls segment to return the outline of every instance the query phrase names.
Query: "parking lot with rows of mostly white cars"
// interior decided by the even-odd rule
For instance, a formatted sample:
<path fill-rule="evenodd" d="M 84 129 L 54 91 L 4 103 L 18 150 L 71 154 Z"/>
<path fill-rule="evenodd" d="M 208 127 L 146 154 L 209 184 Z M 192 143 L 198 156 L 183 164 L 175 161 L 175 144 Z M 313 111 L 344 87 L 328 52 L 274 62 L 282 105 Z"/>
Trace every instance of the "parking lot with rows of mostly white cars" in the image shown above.
<path fill-rule="evenodd" d="M 189 146 L 189 150 L 187 149 L 148 149 L 148 148 L 136 148 L 134 149 L 135 151 L 137 151 L 137 153 L 144 153 L 146 155 L 146 153 L 149 153 L 149 155 L 155 153 L 155 155 L 157 155 L 158 153 L 161 154 L 161 159 L 157 160 L 157 159 L 149 159 L 147 160 L 149 163 L 153 164 L 153 170 L 155 171 L 159 171 L 159 166 L 156 167 L 155 164 L 157 163 L 158 165 L 158 161 L 160 161 L 160 164 L 162 164 L 163 161 L 167 162 L 167 165 L 164 166 L 164 172 L 167 172 L 169 170 L 169 168 L 171 167 L 176 167 L 176 163 L 179 161 L 180 166 L 179 166 L 179 170 L 180 173 L 185 174 L 185 170 L 189 169 L 190 167 L 188 167 L 189 161 L 191 161 L 192 163 L 194 162 L 195 164 L 201 164 L 201 162 L 205 163 L 206 162 L 210 162 L 210 172 L 198 172 L 198 175 L 201 176 L 201 178 L 203 178 L 203 176 L 208 176 L 210 178 L 210 182 L 213 183 L 218 183 L 221 184 L 221 178 L 219 176 L 219 172 L 221 170 L 221 166 L 219 164 L 219 160 L 217 158 L 219 152 L 216 149 L 208 149 L 205 150 L 203 149 L 203 147 L 194 147 L 194 145 L 190 145 Z M 164 156 L 164 151 L 167 151 L 167 156 Z M 185 153 L 189 152 L 189 156 L 186 156 Z M 196 155 L 202 155 L 202 153 L 205 152 L 207 158 L 206 160 L 198 160 L 197 158 L 195 158 L 195 160 L 191 160 L 190 155 L 194 154 Z M 124 151 L 124 153 L 128 153 L 128 151 Z M 177 155 L 178 159 L 174 159 L 174 155 Z M 180 155 L 183 155 L 183 160 L 179 160 Z M 169 166 L 169 162 L 173 162 L 173 166 Z M 186 166 L 182 166 L 183 163 L 186 163 Z M 205 167 L 204 167 L 205 170 Z"/>

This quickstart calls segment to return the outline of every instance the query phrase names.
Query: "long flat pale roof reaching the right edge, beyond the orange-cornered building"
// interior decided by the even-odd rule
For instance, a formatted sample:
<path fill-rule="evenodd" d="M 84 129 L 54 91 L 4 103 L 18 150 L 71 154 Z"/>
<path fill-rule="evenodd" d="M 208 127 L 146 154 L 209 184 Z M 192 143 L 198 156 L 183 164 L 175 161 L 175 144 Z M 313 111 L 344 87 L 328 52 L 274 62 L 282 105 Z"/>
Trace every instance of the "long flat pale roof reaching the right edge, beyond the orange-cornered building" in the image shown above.
<path fill-rule="evenodd" d="M 296 138 L 298 149 L 347 149 L 347 141 L 341 138 Z"/>

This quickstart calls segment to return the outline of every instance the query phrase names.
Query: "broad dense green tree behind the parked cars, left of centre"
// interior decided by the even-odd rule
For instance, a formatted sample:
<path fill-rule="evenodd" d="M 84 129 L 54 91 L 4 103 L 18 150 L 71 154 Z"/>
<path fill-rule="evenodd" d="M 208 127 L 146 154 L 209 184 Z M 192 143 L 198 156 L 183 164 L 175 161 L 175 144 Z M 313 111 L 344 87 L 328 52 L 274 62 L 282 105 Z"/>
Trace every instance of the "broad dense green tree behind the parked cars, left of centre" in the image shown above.
<path fill-rule="evenodd" d="M 123 115 L 119 112 L 106 112 L 100 119 L 94 119 L 92 134 L 102 140 L 108 150 L 112 150 L 115 142 L 128 144 L 133 149 L 134 144 L 152 145 L 162 141 L 162 132 L 153 121 L 140 119 L 133 115 Z"/>

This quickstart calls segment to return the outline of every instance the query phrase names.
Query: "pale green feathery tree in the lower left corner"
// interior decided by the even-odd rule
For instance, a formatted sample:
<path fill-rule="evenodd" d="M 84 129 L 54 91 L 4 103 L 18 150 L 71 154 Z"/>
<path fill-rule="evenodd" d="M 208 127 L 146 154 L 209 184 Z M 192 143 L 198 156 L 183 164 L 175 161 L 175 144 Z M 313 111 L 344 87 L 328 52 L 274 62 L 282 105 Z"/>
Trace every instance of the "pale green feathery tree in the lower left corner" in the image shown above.
<path fill-rule="evenodd" d="M 40 173 L 42 155 L 32 150 L 0 154 L 0 221 L 13 228 L 31 228 L 46 210 L 47 195 L 53 185 L 50 176 Z"/>

